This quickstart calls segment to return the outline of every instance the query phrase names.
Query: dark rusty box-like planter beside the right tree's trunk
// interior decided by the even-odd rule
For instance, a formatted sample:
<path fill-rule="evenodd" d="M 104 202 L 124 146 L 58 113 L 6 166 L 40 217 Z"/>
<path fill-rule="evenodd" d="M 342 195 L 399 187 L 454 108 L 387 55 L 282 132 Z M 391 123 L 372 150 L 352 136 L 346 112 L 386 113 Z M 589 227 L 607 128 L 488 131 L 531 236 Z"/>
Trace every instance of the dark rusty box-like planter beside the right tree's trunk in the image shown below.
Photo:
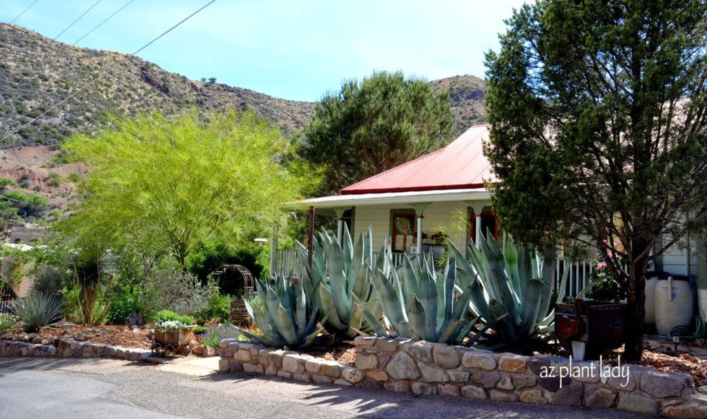
<path fill-rule="evenodd" d="M 584 344 L 584 356 L 598 359 L 626 342 L 629 305 L 626 303 L 575 299 L 574 303 L 555 305 L 555 334 L 565 350 L 578 358 L 575 346 Z"/>

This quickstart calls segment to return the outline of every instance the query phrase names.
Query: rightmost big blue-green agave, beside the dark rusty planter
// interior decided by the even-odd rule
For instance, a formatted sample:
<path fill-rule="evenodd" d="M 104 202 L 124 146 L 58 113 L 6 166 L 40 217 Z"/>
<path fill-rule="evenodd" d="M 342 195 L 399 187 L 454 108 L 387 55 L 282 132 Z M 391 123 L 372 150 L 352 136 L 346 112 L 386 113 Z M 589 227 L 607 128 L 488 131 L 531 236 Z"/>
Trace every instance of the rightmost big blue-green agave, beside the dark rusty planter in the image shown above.
<path fill-rule="evenodd" d="M 491 235 L 469 244 L 468 259 L 450 242 L 457 261 L 457 281 L 472 289 L 469 306 L 495 334 L 486 338 L 498 346 L 520 349 L 547 341 L 553 330 L 554 309 L 550 309 L 555 250 L 548 247 L 541 256 L 525 247 L 516 247 L 506 236 L 501 245 Z M 559 293 L 567 279 L 565 269 Z M 562 295 L 559 296 L 559 299 Z"/>

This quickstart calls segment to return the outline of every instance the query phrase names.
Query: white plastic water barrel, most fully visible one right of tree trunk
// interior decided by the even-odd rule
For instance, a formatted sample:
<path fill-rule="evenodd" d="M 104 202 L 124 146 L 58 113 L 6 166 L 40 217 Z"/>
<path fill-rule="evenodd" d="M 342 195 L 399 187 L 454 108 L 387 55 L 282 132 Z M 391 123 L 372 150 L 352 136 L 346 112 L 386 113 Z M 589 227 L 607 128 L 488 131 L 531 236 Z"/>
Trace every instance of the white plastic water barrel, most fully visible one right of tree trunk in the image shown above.
<path fill-rule="evenodd" d="M 657 281 L 655 328 L 658 334 L 667 335 L 675 326 L 689 326 L 692 316 L 692 289 L 689 281 Z"/>

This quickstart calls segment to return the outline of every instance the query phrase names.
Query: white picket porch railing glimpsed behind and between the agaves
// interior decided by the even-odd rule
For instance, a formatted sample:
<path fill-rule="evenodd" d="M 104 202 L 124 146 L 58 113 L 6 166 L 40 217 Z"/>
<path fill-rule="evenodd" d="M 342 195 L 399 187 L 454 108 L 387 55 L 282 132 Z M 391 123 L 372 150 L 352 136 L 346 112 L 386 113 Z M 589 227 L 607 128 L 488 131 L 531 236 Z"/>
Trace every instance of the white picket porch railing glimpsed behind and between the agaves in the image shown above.
<path fill-rule="evenodd" d="M 393 263 L 395 266 L 402 266 L 402 253 L 393 254 Z M 373 254 L 378 256 L 378 253 Z M 279 250 L 277 254 L 278 272 L 293 272 L 299 273 L 300 264 L 297 260 L 298 252 L 291 249 Z M 594 274 L 595 266 L 589 260 L 570 261 L 558 259 L 555 265 L 554 289 L 559 288 L 560 281 L 564 272 L 565 265 L 569 264 L 569 272 L 567 278 L 567 290 L 565 295 L 573 297 L 583 290 L 590 282 Z"/>

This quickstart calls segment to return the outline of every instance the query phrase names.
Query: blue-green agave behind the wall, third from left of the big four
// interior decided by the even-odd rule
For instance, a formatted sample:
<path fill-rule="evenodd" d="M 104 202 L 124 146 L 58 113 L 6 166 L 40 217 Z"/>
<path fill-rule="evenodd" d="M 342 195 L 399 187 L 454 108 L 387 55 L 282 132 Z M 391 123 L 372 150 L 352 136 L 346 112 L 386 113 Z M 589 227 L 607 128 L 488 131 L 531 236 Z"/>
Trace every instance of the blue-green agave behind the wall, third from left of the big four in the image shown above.
<path fill-rule="evenodd" d="M 388 249 L 381 254 L 390 258 Z M 455 262 L 448 260 L 443 272 L 438 273 L 432 254 L 415 261 L 406 254 L 400 274 L 390 269 L 386 275 L 376 268 L 371 275 L 384 322 L 374 323 L 376 317 L 366 307 L 362 307 L 363 316 L 370 324 L 377 323 L 374 332 L 379 336 L 387 336 L 388 329 L 406 338 L 470 345 L 481 334 L 462 342 L 478 319 L 467 317 L 472 288 L 457 288 L 455 292 L 456 271 Z"/>

